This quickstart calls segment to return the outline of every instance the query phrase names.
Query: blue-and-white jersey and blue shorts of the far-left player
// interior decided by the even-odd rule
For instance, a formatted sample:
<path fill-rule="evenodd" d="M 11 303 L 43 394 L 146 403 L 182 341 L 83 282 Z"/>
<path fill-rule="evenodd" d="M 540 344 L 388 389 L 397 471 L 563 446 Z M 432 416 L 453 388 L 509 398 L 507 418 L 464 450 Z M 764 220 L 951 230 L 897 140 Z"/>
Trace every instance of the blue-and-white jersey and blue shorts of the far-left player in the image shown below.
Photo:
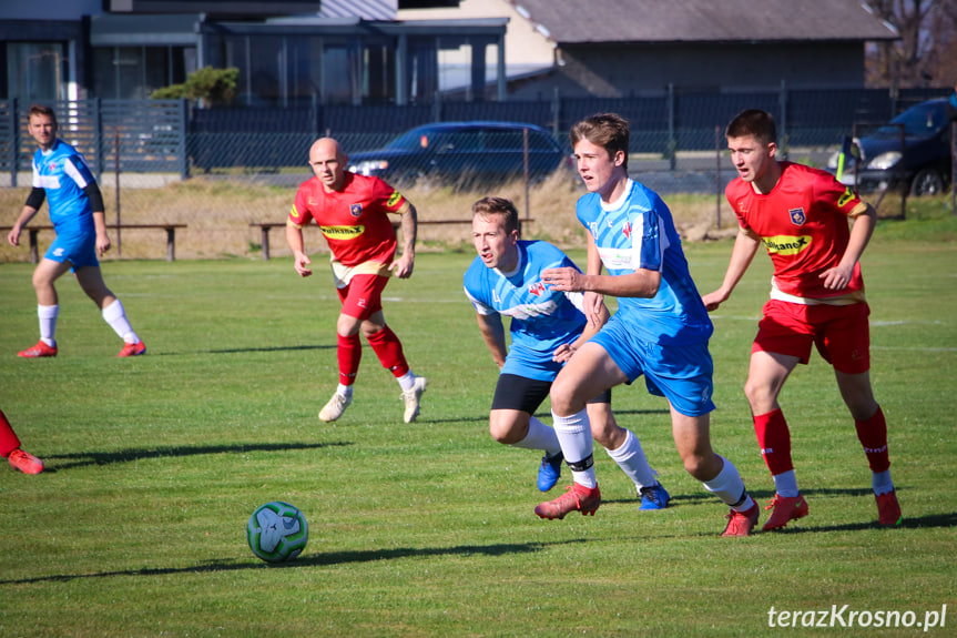
<path fill-rule="evenodd" d="M 62 140 L 33 154 L 33 186 L 43 189 L 57 239 L 47 257 L 74 267 L 96 265 L 93 209 L 83 189 L 95 182 L 83 155 Z"/>

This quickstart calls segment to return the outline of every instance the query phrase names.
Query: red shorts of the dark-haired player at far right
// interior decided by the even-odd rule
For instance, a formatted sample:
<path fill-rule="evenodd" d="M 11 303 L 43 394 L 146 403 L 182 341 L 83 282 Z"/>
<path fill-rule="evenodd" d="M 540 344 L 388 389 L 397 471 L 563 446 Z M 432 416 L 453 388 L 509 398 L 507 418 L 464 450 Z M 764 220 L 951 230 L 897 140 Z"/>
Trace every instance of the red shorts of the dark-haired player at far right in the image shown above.
<path fill-rule="evenodd" d="M 751 348 L 796 356 L 806 364 L 811 344 L 834 369 L 859 374 L 871 369 L 871 325 L 866 303 L 846 306 L 804 305 L 771 300 Z"/>

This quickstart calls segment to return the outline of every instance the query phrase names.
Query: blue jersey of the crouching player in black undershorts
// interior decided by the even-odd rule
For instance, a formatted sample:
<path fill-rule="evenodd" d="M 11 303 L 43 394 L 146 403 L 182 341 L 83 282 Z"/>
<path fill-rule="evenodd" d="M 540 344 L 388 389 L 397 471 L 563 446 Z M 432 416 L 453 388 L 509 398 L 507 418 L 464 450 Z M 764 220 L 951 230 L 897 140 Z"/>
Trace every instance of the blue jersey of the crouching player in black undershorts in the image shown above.
<path fill-rule="evenodd" d="M 502 373 L 553 381 L 561 364 L 556 348 L 581 335 L 587 320 L 581 293 L 549 290 L 541 271 L 571 266 L 563 252 L 548 242 L 518 242 L 519 263 L 511 273 L 486 266 L 476 257 L 465 274 L 466 295 L 476 312 L 511 317 L 511 345 Z"/>

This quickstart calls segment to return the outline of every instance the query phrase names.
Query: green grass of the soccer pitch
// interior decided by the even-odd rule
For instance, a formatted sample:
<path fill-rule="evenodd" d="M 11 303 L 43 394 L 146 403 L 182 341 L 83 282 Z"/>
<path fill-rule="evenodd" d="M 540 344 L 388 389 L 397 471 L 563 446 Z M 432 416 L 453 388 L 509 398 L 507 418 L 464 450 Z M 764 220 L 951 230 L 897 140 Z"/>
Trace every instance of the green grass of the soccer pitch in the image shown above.
<path fill-rule="evenodd" d="M 811 516 L 746 539 L 717 536 L 725 508 L 683 472 L 666 406 L 641 382 L 614 405 L 674 506 L 639 514 L 599 452 L 597 516 L 532 514 L 538 458 L 487 432 L 497 368 L 461 292 L 468 253 L 422 254 L 387 288 L 389 323 L 430 379 L 414 425 L 368 348 L 356 402 L 334 425 L 316 418 L 336 379 L 322 265 L 299 280 L 287 259 L 108 263 L 149 354 L 114 358 L 119 340 L 64 279 L 60 356 L 40 361 L 14 354 L 37 338 L 32 267 L 0 265 L 0 407 L 49 468 L 0 466 L 0 636 L 761 636 L 787 631 L 768 628 L 772 606 L 923 621 L 945 604 L 947 626 L 928 634 L 953 635 L 957 250 L 939 241 L 953 221 L 922 223 L 882 222 L 864 263 L 903 526 L 875 524 L 864 454 L 815 355 L 782 397 Z M 686 246 L 702 292 L 730 250 Z M 768 276 L 762 255 L 712 340 L 714 445 L 762 500 L 773 484 L 741 386 Z M 310 527 L 278 567 L 245 544 L 274 499 Z"/>

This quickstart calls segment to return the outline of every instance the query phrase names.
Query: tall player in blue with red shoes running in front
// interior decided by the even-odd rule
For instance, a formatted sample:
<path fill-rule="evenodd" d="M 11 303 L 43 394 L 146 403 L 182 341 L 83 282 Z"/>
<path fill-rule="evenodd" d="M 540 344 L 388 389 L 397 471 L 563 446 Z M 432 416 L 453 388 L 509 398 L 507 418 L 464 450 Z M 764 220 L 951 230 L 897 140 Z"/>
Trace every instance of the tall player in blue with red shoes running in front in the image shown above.
<path fill-rule="evenodd" d="M 554 431 L 574 485 L 536 507 L 542 518 L 592 514 L 601 505 L 589 435 L 588 399 L 644 375 L 648 391 L 668 399 L 672 436 L 684 468 L 731 507 L 723 536 L 749 536 L 757 504 L 737 469 L 711 447 L 709 415 L 712 325 L 694 286 L 671 212 L 656 193 L 628 176 L 628 122 L 615 113 L 572 126 L 571 145 L 588 193 L 578 201 L 588 230 L 586 273 L 542 271 L 553 291 L 581 292 L 590 321 L 602 295 L 618 312 L 572 355 L 551 386 Z M 602 274 L 602 266 L 609 274 Z"/>

